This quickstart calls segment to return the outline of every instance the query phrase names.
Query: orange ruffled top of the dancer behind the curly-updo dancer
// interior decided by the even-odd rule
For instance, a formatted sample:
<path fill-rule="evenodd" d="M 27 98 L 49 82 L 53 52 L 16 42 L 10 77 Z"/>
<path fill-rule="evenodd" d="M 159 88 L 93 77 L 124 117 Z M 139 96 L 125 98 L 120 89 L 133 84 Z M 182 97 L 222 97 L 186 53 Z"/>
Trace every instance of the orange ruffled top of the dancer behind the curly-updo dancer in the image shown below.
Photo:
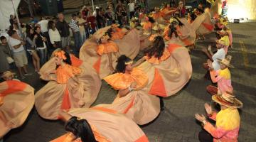
<path fill-rule="evenodd" d="M 97 48 L 97 53 L 99 55 L 107 54 L 107 53 L 117 53 L 118 46 L 116 43 L 109 41 L 107 43 L 102 43 Z"/>

